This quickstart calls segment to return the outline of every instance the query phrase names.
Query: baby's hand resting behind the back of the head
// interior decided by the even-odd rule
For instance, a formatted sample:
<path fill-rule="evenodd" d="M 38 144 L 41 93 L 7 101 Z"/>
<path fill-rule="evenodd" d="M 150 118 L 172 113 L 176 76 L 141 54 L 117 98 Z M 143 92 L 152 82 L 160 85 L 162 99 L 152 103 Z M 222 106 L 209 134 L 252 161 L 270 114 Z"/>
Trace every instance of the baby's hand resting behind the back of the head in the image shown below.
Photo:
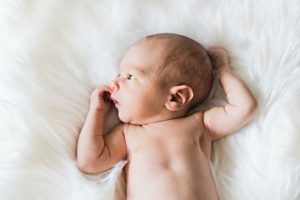
<path fill-rule="evenodd" d="M 229 68 L 229 56 L 224 48 L 213 46 L 208 49 L 207 53 L 214 69 L 221 71 L 221 69 Z"/>

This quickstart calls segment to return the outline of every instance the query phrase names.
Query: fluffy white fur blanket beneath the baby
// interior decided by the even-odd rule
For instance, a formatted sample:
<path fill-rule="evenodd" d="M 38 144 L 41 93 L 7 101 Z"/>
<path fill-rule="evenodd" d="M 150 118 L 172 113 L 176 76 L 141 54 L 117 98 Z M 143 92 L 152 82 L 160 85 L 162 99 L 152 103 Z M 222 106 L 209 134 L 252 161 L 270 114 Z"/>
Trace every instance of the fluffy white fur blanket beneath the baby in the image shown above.
<path fill-rule="evenodd" d="M 300 199 L 298 0 L 10 0 L 0 3 L 1 200 L 112 199 L 122 163 L 84 176 L 76 140 L 92 89 L 158 32 L 224 46 L 258 99 L 254 119 L 214 144 L 220 198 Z"/>

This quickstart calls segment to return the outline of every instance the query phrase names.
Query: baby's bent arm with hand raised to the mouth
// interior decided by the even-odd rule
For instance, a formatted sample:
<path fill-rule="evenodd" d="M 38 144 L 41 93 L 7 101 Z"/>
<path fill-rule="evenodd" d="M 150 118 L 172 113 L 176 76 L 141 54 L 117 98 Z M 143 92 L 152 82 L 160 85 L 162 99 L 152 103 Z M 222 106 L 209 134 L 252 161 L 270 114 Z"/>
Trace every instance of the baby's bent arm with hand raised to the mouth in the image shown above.
<path fill-rule="evenodd" d="M 104 119 L 110 109 L 104 100 L 110 93 L 107 86 L 100 86 L 91 95 L 91 105 L 77 144 L 77 165 L 85 173 L 98 173 L 111 168 L 126 155 L 124 124 L 103 135 Z"/>

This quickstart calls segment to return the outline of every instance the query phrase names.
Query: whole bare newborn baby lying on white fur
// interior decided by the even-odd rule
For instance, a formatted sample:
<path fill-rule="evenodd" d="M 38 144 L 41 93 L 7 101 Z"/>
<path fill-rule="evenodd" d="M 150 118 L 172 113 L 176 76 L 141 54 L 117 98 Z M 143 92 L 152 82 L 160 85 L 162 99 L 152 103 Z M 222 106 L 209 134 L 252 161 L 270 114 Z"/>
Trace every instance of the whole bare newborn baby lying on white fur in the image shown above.
<path fill-rule="evenodd" d="M 212 66 L 228 104 L 187 115 L 209 95 Z M 112 104 L 123 123 L 104 135 Z M 114 82 L 92 93 L 77 164 L 85 173 L 99 173 L 127 159 L 127 199 L 218 199 L 212 142 L 241 128 L 255 110 L 253 95 L 232 73 L 223 48 L 207 52 L 177 34 L 147 36 L 127 50 Z"/>

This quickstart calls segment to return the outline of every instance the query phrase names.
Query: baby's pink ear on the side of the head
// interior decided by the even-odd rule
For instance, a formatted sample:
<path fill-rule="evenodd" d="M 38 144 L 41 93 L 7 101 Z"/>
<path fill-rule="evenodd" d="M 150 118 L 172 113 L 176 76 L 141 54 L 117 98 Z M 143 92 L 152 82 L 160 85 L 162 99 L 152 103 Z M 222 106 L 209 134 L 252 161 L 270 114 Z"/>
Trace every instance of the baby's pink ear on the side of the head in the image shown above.
<path fill-rule="evenodd" d="M 174 86 L 169 90 L 165 106 L 170 111 L 184 108 L 194 96 L 193 90 L 187 85 Z"/>

